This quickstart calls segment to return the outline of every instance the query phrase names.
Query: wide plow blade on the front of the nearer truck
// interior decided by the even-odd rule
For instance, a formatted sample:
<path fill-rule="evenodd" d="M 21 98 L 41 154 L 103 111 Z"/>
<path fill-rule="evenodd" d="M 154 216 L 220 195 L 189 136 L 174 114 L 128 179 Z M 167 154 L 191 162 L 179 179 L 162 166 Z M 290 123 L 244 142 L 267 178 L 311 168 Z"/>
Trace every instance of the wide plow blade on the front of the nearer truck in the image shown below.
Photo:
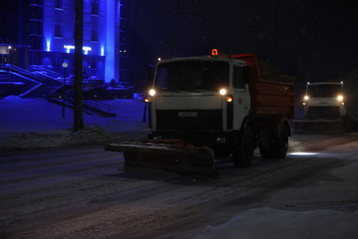
<path fill-rule="evenodd" d="M 105 150 L 124 152 L 125 166 L 185 175 L 217 175 L 214 152 L 206 146 L 183 145 L 181 141 L 114 142 L 106 144 Z"/>

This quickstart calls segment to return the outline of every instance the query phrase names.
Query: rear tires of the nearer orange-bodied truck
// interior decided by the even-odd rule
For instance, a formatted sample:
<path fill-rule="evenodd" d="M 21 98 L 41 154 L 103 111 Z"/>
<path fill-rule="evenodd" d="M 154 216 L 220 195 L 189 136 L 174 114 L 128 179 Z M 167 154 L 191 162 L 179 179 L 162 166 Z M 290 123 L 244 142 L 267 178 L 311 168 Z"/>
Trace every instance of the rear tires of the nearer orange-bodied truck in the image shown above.
<path fill-rule="evenodd" d="M 260 146 L 262 158 L 285 158 L 288 149 L 288 131 L 285 125 L 281 126 L 279 137 L 267 139 L 268 143 Z"/>

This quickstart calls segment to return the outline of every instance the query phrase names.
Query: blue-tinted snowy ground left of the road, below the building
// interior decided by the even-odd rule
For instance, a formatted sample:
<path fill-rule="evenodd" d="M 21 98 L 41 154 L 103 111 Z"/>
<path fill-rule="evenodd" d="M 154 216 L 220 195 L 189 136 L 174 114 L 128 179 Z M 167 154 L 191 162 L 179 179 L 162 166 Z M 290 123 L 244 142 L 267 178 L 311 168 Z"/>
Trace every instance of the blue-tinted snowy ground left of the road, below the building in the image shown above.
<path fill-rule="evenodd" d="M 72 132 L 73 110 L 44 98 L 7 97 L 0 100 L 0 148 L 27 149 L 95 144 L 131 140 L 130 132 L 149 131 L 143 123 L 144 103 L 138 99 L 105 101 L 112 105 L 115 117 L 83 113 L 85 129 Z M 132 135 L 132 136 L 131 136 Z M 135 137 L 134 137 L 135 138 Z"/>

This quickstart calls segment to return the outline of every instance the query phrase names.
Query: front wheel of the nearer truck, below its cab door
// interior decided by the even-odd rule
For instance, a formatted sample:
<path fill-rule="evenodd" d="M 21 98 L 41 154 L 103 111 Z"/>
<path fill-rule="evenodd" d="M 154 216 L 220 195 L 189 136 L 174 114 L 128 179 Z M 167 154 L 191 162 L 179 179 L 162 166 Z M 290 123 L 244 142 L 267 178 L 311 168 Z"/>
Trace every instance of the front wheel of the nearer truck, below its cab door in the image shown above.
<path fill-rule="evenodd" d="M 250 127 L 243 131 L 242 139 L 233 154 L 233 163 L 236 167 L 251 166 L 255 139 Z"/>

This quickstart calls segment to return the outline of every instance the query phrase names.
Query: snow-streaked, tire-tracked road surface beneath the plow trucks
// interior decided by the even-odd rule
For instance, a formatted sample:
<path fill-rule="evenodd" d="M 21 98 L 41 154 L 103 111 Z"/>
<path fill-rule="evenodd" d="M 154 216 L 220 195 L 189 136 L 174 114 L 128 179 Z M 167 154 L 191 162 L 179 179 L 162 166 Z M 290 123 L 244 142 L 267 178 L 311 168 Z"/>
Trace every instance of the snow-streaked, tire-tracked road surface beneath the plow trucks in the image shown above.
<path fill-rule="evenodd" d="M 296 134 L 284 159 L 220 177 L 125 168 L 103 145 L 0 154 L 0 237 L 170 238 L 199 234 L 247 209 L 335 209 L 358 202 L 358 134 Z"/>

